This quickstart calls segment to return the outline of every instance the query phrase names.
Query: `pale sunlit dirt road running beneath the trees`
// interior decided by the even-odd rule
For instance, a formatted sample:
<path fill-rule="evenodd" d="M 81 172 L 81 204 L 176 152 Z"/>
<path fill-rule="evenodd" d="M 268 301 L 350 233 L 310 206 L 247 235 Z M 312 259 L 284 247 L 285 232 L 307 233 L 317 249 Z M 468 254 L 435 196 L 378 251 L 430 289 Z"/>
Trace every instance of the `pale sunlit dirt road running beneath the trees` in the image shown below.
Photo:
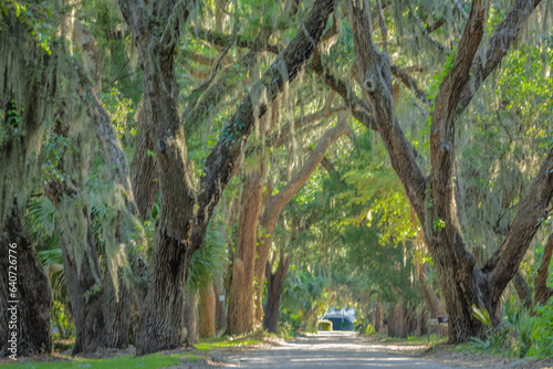
<path fill-rule="evenodd" d="M 227 354 L 227 367 L 238 368 L 461 368 L 401 355 L 401 347 L 371 342 L 353 333 L 331 331 L 301 337 L 269 349 Z"/>

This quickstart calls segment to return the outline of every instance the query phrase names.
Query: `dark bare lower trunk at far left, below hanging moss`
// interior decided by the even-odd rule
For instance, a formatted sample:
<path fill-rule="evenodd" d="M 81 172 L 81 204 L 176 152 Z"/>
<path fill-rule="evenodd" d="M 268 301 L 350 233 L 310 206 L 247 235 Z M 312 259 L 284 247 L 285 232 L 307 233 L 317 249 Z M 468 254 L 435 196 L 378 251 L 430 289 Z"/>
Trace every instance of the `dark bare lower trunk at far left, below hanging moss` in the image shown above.
<path fill-rule="evenodd" d="M 2 228 L 0 257 L 0 358 L 52 351 L 52 292 L 27 234 L 17 201 Z M 14 257 L 10 257 L 10 255 Z M 12 262 L 13 261 L 13 262 Z M 13 283 L 14 282 L 14 283 Z M 14 287 L 13 291 L 11 288 Z M 12 334 L 17 333 L 14 342 Z"/>

